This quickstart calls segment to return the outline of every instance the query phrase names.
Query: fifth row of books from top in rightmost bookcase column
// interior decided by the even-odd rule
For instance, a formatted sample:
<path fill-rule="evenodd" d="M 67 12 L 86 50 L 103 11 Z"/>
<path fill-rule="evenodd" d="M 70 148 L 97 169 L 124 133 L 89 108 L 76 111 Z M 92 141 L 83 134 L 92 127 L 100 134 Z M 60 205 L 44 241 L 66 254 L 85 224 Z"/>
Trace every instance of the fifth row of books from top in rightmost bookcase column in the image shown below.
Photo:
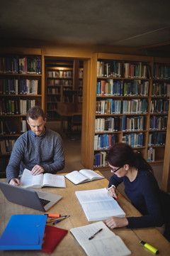
<path fill-rule="evenodd" d="M 149 133 L 148 146 L 164 146 L 166 142 L 166 132 Z"/>

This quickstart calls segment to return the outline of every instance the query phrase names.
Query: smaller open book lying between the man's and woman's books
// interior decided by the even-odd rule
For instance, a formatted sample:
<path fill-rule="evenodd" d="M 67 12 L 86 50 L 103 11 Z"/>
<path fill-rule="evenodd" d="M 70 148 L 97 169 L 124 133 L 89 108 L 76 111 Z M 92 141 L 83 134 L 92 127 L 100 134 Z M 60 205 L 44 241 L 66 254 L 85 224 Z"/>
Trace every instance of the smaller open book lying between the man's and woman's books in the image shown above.
<path fill-rule="evenodd" d="M 80 171 L 72 171 L 69 174 L 65 175 L 69 181 L 72 181 L 75 185 L 79 183 L 84 183 L 86 181 L 95 181 L 101 178 L 104 178 L 100 174 L 97 174 L 95 171 L 89 169 L 82 169 Z"/>

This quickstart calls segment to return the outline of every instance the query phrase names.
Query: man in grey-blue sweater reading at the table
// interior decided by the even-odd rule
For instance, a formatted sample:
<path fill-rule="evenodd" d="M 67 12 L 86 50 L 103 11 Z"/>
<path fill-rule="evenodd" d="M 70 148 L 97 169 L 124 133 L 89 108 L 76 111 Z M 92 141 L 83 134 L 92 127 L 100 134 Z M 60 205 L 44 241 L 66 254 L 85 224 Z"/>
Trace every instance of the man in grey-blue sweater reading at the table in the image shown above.
<path fill-rule="evenodd" d="M 64 149 L 60 134 L 45 127 L 45 114 L 38 107 L 27 113 L 30 130 L 16 140 L 6 167 L 6 178 L 11 185 L 19 186 L 18 176 L 26 168 L 33 175 L 56 174 L 64 169 Z"/>

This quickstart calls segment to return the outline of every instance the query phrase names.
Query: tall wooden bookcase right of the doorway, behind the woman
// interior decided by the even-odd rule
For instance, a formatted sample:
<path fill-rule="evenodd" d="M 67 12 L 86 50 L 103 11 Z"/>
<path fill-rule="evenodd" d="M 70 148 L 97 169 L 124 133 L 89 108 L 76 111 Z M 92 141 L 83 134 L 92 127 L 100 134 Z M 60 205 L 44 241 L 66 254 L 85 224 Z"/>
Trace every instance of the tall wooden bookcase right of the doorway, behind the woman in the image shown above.
<path fill-rule="evenodd" d="M 126 142 L 140 151 L 150 164 L 164 163 L 166 127 L 169 121 L 169 78 L 153 77 L 154 61 L 152 57 L 139 55 L 109 53 L 94 55 L 91 95 L 87 99 L 88 105 L 91 107 L 91 115 L 88 120 L 89 145 L 87 145 L 88 149 L 84 151 L 87 161 L 83 164 L 86 167 L 108 169 L 104 159 L 109 146 L 103 148 L 103 144 L 101 145 L 103 138 L 108 140 L 108 135 L 110 146 L 114 142 Z M 103 68 L 100 68 L 102 71 L 99 73 L 99 67 L 103 63 Z M 155 63 L 164 66 L 164 60 L 161 58 L 157 59 Z M 168 60 L 165 63 L 168 63 Z M 134 75 L 135 71 L 136 75 Z M 142 75 L 143 73 L 146 75 Z M 113 85 L 114 82 L 115 91 L 108 92 L 109 85 Z M 100 91 L 98 89 L 100 86 L 104 87 L 105 91 Z M 157 87 L 159 90 L 162 88 L 162 95 L 153 95 L 153 87 Z M 167 93 L 163 92 L 165 87 L 168 87 Z M 111 112 L 113 102 L 118 106 L 115 108 L 115 112 Z M 103 106 L 103 112 L 100 110 L 100 105 Z M 137 106 L 140 108 L 139 112 L 137 112 Z M 99 124 L 101 122 L 105 125 L 101 130 L 100 125 L 97 129 L 98 119 L 101 119 Z M 115 129 L 108 130 L 108 119 L 114 119 L 117 125 Z M 158 126 L 155 124 L 157 119 L 159 119 Z M 86 129 L 88 127 L 84 128 L 84 132 Z M 99 160 L 95 160 L 95 158 Z"/>

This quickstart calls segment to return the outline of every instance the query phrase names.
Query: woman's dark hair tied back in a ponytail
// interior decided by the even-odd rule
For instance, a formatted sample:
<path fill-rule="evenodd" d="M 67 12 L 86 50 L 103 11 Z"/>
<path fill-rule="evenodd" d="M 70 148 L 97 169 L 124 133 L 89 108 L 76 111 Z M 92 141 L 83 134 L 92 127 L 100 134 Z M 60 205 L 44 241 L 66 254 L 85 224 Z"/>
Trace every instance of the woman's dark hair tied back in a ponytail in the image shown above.
<path fill-rule="evenodd" d="M 106 155 L 106 161 L 115 167 L 123 167 L 125 164 L 137 169 L 147 169 L 153 174 L 152 167 L 143 158 L 142 154 L 132 149 L 125 143 L 115 143 Z"/>

